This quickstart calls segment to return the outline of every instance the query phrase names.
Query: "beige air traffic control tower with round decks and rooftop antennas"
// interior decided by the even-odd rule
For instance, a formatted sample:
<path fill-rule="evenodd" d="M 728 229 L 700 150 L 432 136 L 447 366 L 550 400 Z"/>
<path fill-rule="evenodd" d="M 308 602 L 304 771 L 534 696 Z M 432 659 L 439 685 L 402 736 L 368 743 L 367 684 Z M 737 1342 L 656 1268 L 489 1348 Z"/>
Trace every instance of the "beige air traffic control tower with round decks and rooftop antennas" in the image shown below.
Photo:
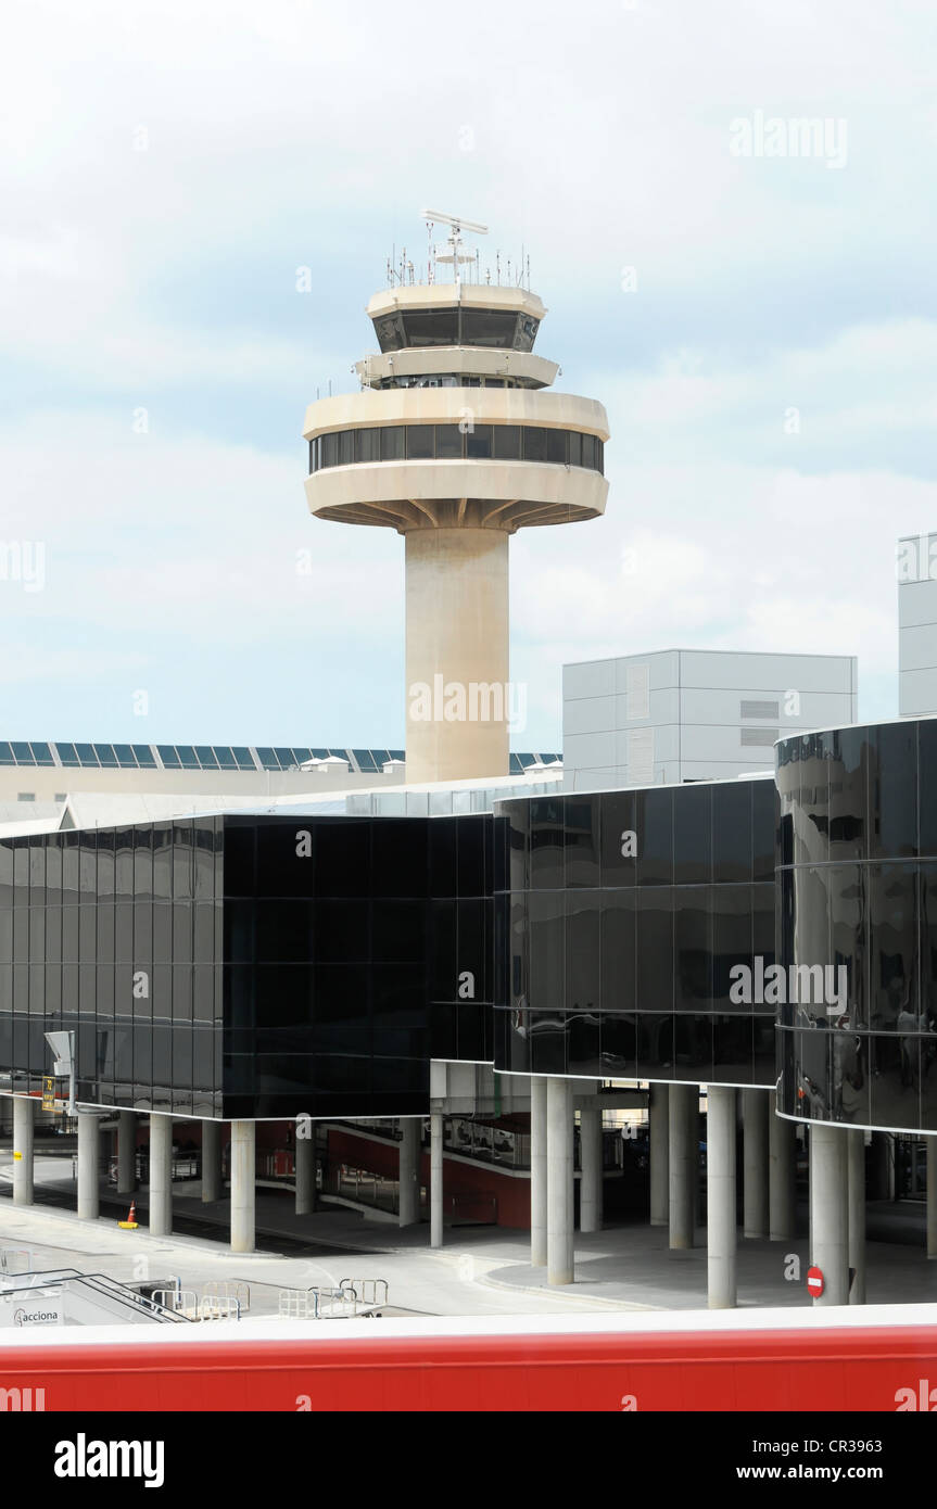
<path fill-rule="evenodd" d="M 425 282 L 406 252 L 367 312 L 380 355 L 361 392 L 306 412 L 309 509 L 406 539 L 406 779 L 505 776 L 510 687 L 508 537 L 605 512 L 605 409 L 548 392 L 558 367 L 534 355 L 546 309 L 524 264 L 481 275 L 463 232 L 424 210 Z M 436 246 L 438 222 L 450 226 Z"/>

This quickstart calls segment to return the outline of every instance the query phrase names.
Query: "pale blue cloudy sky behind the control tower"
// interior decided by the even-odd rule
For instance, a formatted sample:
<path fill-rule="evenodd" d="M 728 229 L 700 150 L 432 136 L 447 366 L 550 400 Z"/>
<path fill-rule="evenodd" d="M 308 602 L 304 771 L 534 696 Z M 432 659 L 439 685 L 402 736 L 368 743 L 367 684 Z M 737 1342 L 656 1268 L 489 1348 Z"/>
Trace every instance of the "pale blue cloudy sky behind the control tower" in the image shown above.
<path fill-rule="evenodd" d="M 309 518 L 302 421 L 425 204 L 530 252 L 613 432 L 605 519 L 512 543 L 518 747 L 668 646 L 854 653 L 896 715 L 935 75 L 931 0 L 8 0 L 0 736 L 403 742 L 403 542 Z"/>

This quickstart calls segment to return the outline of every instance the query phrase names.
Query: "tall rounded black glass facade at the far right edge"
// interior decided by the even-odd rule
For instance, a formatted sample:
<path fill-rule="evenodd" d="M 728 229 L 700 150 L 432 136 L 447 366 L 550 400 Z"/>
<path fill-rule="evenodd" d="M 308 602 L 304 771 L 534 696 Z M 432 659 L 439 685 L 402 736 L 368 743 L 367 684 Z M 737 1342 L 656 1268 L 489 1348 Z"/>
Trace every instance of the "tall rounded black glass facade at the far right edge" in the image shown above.
<path fill-rule="evenodd" d="M 777 786 L 783 1111 L 934 1132 L 937 720 L 785 739 Z"/>

